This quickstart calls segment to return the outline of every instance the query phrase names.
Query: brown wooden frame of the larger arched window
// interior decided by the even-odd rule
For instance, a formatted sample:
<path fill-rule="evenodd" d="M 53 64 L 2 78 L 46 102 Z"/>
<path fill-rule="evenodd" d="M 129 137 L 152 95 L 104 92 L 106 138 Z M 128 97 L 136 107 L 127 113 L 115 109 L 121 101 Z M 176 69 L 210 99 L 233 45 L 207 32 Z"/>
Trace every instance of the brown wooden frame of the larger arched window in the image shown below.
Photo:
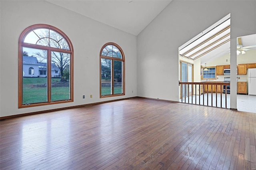
<path fill-rule="evenodd" d="M 26 36 L 33 31 L 34 29 L 49 29 L 52 30 L 61 36 L 66 40 L 66 42 L 69 45 L 69 50 L 66 49 L 61 49 L 61 48 L 55 48 L 55 47 L 48 47 L 48 46 L 43 46 L 43 45 L 36 45 L 32 43 L 25 43 L 24 40 Z M 28 48 L 35 48 L 35 49 L 41 49 L 41 50 L 46 50 L 48 51 L 48 56 L 51 56 L 52 51 L 57 51 L 57 52 L 63 52 L 63 53 L 69 53 L 70 54 L 70 99 L 68 100 L 61 100 L 61 101 L 51 101 L 51 86 L 48 86 L 48 101 L 47 102 L 42 102 L 42 103 L 30 103 L 30 104 L 22 104 L 22 87 L 23 87 L 23 50 L 22 47 L 28 47 Z M 74 101 L 74 66 L 73 66 L 73 61 L 74 61 L 74 56 L 73 56 L 74 50 L 73 50 L 73 45 L 66 36 L 64 32 L 62 32 L 60 29 L 50 26 L 47 24 L 35 24 L 32 26 L 29 26 L 23 32 L 20 34 L 19 41 L 18 41 L 18 58 L 19 58 L 19 65 L 18 65 L 18 77 L 19 77 L 19 83 L 18 83 L 18 108 L 25 108 L 25 107 L 35 107 L 35 106 L 42 106 L 42 105 L 52 105 L 52 104 L 58 104 L 58 103 L 68 103 L 68 102 L 73 102 Z M 51 62 L 47 63 L 48 67 L 51 68 Z M 51 83 L 51 71 L 47 71 L 47 82 L 48 84 Z"/>

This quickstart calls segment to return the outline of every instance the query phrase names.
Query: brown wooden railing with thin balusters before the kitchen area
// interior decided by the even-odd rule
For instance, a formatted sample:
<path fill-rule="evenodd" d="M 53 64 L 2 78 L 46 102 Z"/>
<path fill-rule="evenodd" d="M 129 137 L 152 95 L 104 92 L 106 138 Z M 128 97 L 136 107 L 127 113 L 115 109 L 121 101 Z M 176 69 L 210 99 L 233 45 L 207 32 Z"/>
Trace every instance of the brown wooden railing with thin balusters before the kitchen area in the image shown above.
<path fill-rule="evenodd" d="M 179 85 L 180 85 L 181 103 L 190 103 L 195 105 L 207 105 L 212 107 L 227 108 L 227 85 L 230 85 L 230 83 L 180 82 Z M 225 86 L 225 93 L 222 94 L 224 86 Z M 191 94 L 189 93 L 190 87 L 192 92 Z M 215 91 L 214 91 L 214 88 L 215 88 Z M 199 92 L 198 92 L 198 89 L 199 89 Z M 182 95 L 183 91 L 185 96 Z M 194 100 L 193 100 L 193 97 L 195 98 Z M 215 98 L 215 102 L 214 102 L 214 98 Z M 223 105 L 224 107 L 222 107 Z"/>

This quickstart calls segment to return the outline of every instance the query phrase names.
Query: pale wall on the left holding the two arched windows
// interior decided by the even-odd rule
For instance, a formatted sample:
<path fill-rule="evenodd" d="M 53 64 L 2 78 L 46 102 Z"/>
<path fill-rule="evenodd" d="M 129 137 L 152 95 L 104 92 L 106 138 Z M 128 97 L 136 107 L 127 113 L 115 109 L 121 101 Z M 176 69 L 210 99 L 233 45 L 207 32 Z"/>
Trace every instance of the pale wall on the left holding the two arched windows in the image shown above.
<path fill-rule="evenodd" d="M 136 36 L 46 1 L 1 0 L 0 17 L 1 117 L 137 96 Z M 70 38 L 74 47 L 74 102 L 18 109 L 18 38 L 33 24 L 55 26 Z M 125 96 L 100 99 L 99 55 L 107 42 L 117 43 L 124 51 Z"/>

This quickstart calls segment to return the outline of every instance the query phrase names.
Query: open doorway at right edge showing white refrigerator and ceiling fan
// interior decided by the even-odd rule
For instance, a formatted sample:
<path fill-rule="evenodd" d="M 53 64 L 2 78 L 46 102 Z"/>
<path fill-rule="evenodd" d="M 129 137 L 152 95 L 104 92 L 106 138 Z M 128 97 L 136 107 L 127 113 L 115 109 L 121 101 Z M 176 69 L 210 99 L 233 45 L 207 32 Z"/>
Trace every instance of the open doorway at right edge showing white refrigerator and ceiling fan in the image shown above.
<path fill-rule="evenodd" d="M 237 38 L 237 110 L 256 113 L 256 34 Z"/>

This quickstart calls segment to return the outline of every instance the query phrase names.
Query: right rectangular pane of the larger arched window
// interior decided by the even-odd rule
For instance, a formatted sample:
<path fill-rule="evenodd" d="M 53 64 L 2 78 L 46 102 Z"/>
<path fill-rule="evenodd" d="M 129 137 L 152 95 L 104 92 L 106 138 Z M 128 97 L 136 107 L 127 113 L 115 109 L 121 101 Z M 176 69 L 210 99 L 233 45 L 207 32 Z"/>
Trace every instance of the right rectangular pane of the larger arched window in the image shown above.
<path fill-rule="evenodd" d="M 51 101 L 70 99 L 70 54 L 52 51 Z"/>

